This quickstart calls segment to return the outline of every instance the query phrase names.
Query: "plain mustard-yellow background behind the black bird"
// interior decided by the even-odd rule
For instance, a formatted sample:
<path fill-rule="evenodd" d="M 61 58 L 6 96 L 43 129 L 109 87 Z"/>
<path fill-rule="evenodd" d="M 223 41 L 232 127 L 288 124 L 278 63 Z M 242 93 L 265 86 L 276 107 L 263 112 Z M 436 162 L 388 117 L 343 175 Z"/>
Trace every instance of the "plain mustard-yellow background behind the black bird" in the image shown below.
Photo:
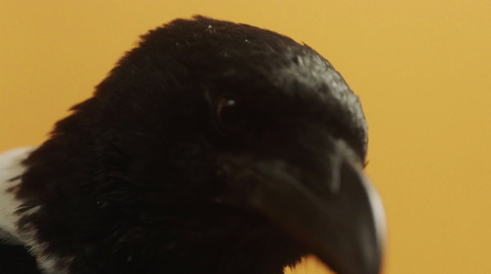
<path fill-rule="evenodd" d="M 491 0 L 0 0 L 0 151 L 42 142 L 138 35 L 198 13 L 309 44 L 360 95 L 386 274 L 491 273 Z"/>

